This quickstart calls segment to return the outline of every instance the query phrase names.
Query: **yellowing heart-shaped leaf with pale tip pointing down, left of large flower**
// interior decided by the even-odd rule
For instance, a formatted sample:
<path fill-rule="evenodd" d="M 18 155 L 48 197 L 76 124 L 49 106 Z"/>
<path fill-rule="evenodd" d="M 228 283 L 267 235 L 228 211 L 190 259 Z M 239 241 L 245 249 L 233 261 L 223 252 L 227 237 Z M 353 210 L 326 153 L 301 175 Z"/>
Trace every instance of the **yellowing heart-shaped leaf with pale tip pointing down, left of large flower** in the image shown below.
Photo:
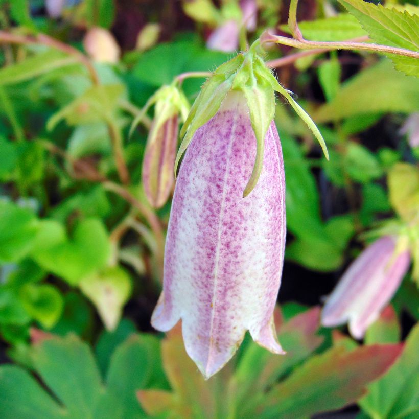
<path fill-rule="evenodd" d="M 96 306 L 107 330 L 114 330 L 122 308 L 131 294 L 131 278 L 120 267 L 111 267 L 85 276 L 79 287 Z"/>

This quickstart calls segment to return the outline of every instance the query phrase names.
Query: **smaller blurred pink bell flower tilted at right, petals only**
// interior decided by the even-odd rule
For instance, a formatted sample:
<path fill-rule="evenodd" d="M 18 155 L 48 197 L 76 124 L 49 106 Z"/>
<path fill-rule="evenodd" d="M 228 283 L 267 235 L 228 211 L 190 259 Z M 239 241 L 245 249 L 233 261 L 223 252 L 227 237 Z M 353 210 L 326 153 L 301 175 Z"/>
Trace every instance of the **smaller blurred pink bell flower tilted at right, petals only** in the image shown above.
<path fill-rule="evenodd" d="M 322 310 L 324 326 L 349 322 L 352 336 L 357 339 L 364 336 L 409 269 L 409 252 L 399 252 L 396 243 L 397 238 L 383 236 L 348 267 Z"/>

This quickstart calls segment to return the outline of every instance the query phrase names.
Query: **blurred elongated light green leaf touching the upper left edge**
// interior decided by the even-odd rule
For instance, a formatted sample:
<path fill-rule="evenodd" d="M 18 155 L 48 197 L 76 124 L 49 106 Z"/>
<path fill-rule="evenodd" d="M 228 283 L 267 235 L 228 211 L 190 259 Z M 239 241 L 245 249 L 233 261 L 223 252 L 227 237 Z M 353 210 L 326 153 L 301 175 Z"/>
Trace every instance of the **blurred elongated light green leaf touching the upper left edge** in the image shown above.
<path fill-rule="evenodd" d="M 0 69 L 0 86 L 31 80 L 41 74 L 51 72 L 55 68 L 75 64 L 77 60 L 61 51 L 48 50 L 26 58 L 17 64 Z"/>

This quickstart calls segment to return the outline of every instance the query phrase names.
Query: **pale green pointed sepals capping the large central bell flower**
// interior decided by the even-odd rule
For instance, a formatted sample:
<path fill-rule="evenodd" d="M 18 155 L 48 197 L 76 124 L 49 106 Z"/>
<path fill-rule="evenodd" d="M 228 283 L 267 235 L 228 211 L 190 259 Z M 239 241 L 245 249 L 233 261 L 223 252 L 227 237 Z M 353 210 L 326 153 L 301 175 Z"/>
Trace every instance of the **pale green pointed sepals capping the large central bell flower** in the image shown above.
<path fill-rule="evenodd" d="M 192 105 L 181 131 L 183 137 L 175 162 L 175 174 L 183 152 L 189 146 L 196 130 L 214 117 L 225 96 L 230 90 L 239 90 L 246 98 L 250 121 L 257 141 L 257 153 L 250 179 L 244 189 L 247 196 L 258 182 L 263 165 L 264 139 L 275 113 L 275 91 L 287 99 L 299 117 L 309 126 L 326 158 L 329 154 L 320 131 L 309 115 L 290 95 L 290 91 L 278 83 L 270 69 L 266 67 L 261 55 L 259 41 L 255 41 L 249 51 L 242 52 L 230 61 L 220 65 L 207 79 Z"/>

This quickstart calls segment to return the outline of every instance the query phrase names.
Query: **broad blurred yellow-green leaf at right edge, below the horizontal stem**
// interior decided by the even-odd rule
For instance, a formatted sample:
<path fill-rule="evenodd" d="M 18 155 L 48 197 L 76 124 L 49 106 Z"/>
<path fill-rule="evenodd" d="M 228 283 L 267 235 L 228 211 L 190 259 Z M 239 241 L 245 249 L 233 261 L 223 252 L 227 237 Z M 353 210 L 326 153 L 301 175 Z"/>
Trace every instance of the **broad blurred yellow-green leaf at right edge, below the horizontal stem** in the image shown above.
<path fill-rule="evenodd" d="M 418 108 L 419 83 L 383 60 L 344 82 L 334 100 L 320 106 L 313 119 L 320 123 L 362 113 L 411 113 Z"/>

